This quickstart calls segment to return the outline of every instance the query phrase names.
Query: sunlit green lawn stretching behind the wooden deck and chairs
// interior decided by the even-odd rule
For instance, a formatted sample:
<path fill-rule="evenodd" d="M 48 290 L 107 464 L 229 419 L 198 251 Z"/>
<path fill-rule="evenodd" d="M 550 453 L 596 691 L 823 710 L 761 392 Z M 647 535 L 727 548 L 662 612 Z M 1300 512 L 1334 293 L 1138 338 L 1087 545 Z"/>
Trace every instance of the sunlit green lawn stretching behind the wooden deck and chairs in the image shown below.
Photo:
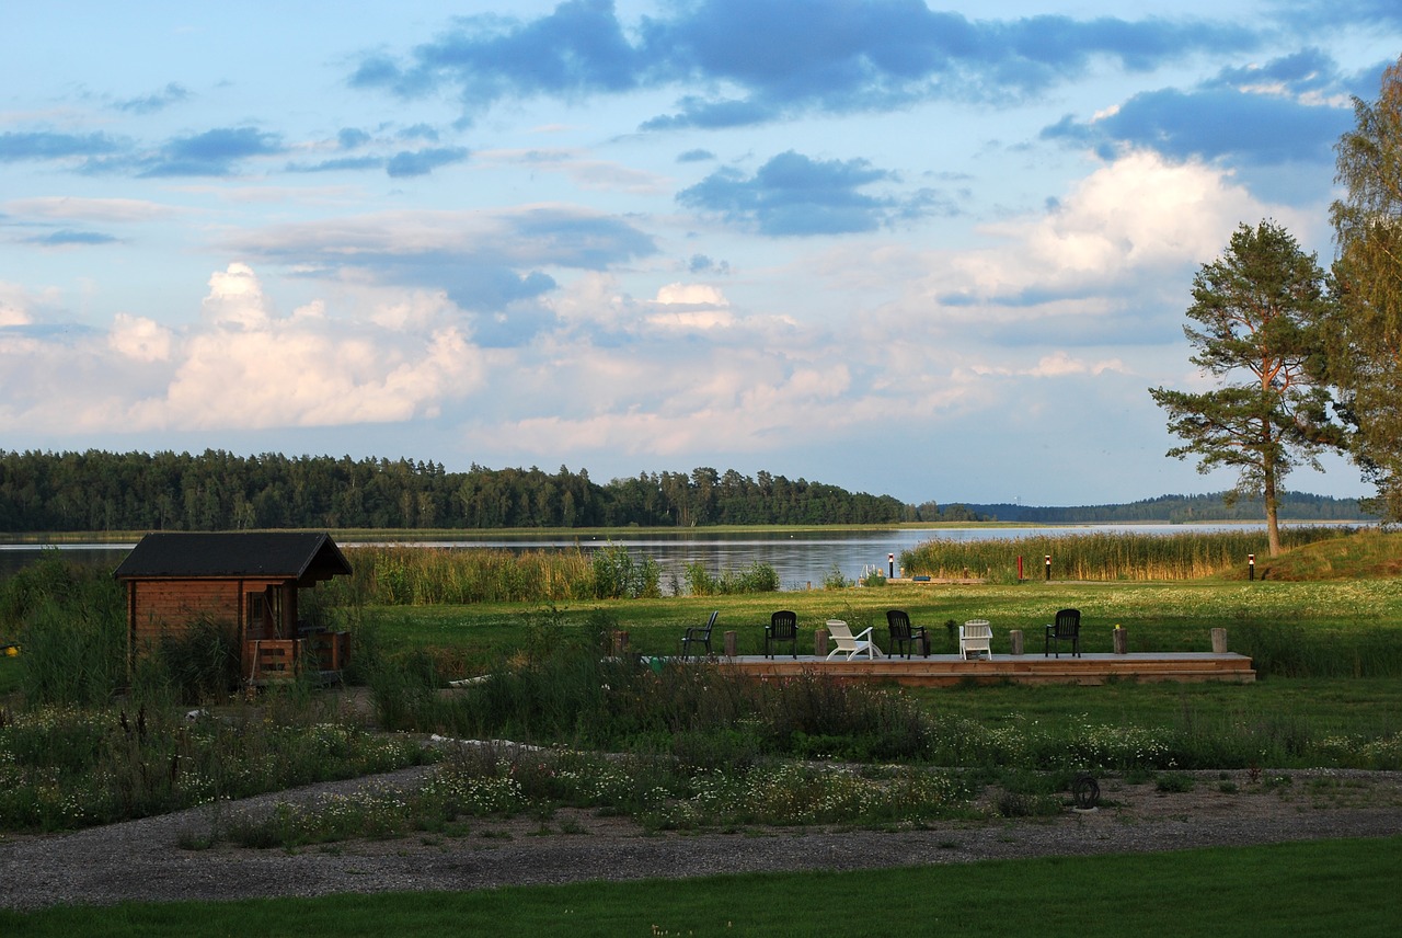
<path fill-rule="evenodd" d="M 646 655 L 673 655 L 688 625 L 719 610 L 715 642 L 735 631 L 742 655 L 763 649 L 770 613 L 792 609 L 801 648 L 829 618 L 855 630 L 875 627 L 886 645 L 886 610 L 904 609 L 934 635 L 937 653 L 956 649 L 949 623 L 987 618 L 994 652 L 1007 653 L 1008 632 L 1022 630 L 1028 653 L 1040 653 L 1042 627 L 1057 609 L 1082 613 L 1082 648 L 1109 652 L 1116 624 L 1129 630 L 1131 652 L 1210 651 L 1211 630 L 1225 628 L 1228 648 L 1259 658 L 1265 674 L 1402 676 L 1402 589 L 1396 580 L 1182 583 L 1042 583 L 1009 586 L 889 585 L 843 590 L 803 590 L 758 596 L 585 600 L 554 606 L 479 603 L 472 606 L 365 607 L 390 646 L 439 649 L 465 673 L 482 673 L 522 644 L 533 621 L 585 628 L 601 621 L 629 634 L 629 646 Z"/>

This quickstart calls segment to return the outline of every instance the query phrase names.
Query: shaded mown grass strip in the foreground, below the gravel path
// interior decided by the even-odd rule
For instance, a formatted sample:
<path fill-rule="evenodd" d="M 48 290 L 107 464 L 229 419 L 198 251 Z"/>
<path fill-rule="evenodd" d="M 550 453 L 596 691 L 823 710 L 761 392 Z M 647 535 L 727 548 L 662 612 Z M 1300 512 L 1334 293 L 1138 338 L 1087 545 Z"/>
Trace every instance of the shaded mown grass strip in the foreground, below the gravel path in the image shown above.
<path fill-rule="evenodd" d="M 0 934 L 1392 935 L 1402 837 L 453 893 L 0 911 Z"/>

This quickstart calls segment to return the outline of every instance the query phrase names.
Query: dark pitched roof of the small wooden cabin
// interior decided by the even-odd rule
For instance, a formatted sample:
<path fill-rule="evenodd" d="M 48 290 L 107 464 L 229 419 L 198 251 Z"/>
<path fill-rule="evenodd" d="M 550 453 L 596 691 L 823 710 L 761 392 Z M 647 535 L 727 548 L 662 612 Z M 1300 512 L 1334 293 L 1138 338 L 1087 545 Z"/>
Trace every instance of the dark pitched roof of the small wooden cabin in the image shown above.
<path fill-rule="evenodd" d="M 329 534 L 147 534 L 112 573 L 118 579 L 268 578 L 313 583 L 350 573 Z"/>

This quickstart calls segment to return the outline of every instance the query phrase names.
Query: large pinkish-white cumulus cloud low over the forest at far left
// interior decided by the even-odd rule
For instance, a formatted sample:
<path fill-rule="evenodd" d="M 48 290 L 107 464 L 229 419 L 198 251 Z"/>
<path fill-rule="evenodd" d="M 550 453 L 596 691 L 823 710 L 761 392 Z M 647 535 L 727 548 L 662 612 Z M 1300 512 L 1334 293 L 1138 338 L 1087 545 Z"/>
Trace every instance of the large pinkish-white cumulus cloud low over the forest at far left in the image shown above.
<path fill-rule="evenodd" d="M 0 315 L 27 321 L 8 308 L 0 303 Z M 437 415 L 444 401 L 484 381 L 481 351 L 447 315 L 355 321 L 329 315 L 321 301 L 278 315 L 247 264 L 210 278 L 200 311 L 185 329 L 118 314 L 101 337 L 0 332 L 0 426 L 62 419 L 72 432 L 237 430 L 408 421 Z"/>

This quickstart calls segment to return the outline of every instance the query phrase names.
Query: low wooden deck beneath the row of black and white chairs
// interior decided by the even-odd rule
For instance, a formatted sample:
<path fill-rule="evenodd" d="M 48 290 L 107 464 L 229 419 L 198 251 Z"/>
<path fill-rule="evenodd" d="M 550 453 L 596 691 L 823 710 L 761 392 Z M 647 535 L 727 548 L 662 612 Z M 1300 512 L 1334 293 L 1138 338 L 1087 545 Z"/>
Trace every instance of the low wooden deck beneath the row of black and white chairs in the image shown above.
<path fill-rule="evenodd" d="M 761 658 L 740 655 L 715 659 L 722 667 L 756 677 L 794 677 L 803 672 L 848 680 L 893 681 L 907 687 L 946 687 L 962 681 L 995 684 L 1105 684 L 1112 680 L 1138 681 L 1227 681 L 1256 680 L 1251 659 L 1237 653 L 1165 652 L 1159 655 L 1084 655 L 1061 658 L 1042 655 L 994 655 L 991 659 L 962 660 L 958 655 L 930 658 L 878 658 L 866 660 L 822 659 L 813 655 Z"/>

